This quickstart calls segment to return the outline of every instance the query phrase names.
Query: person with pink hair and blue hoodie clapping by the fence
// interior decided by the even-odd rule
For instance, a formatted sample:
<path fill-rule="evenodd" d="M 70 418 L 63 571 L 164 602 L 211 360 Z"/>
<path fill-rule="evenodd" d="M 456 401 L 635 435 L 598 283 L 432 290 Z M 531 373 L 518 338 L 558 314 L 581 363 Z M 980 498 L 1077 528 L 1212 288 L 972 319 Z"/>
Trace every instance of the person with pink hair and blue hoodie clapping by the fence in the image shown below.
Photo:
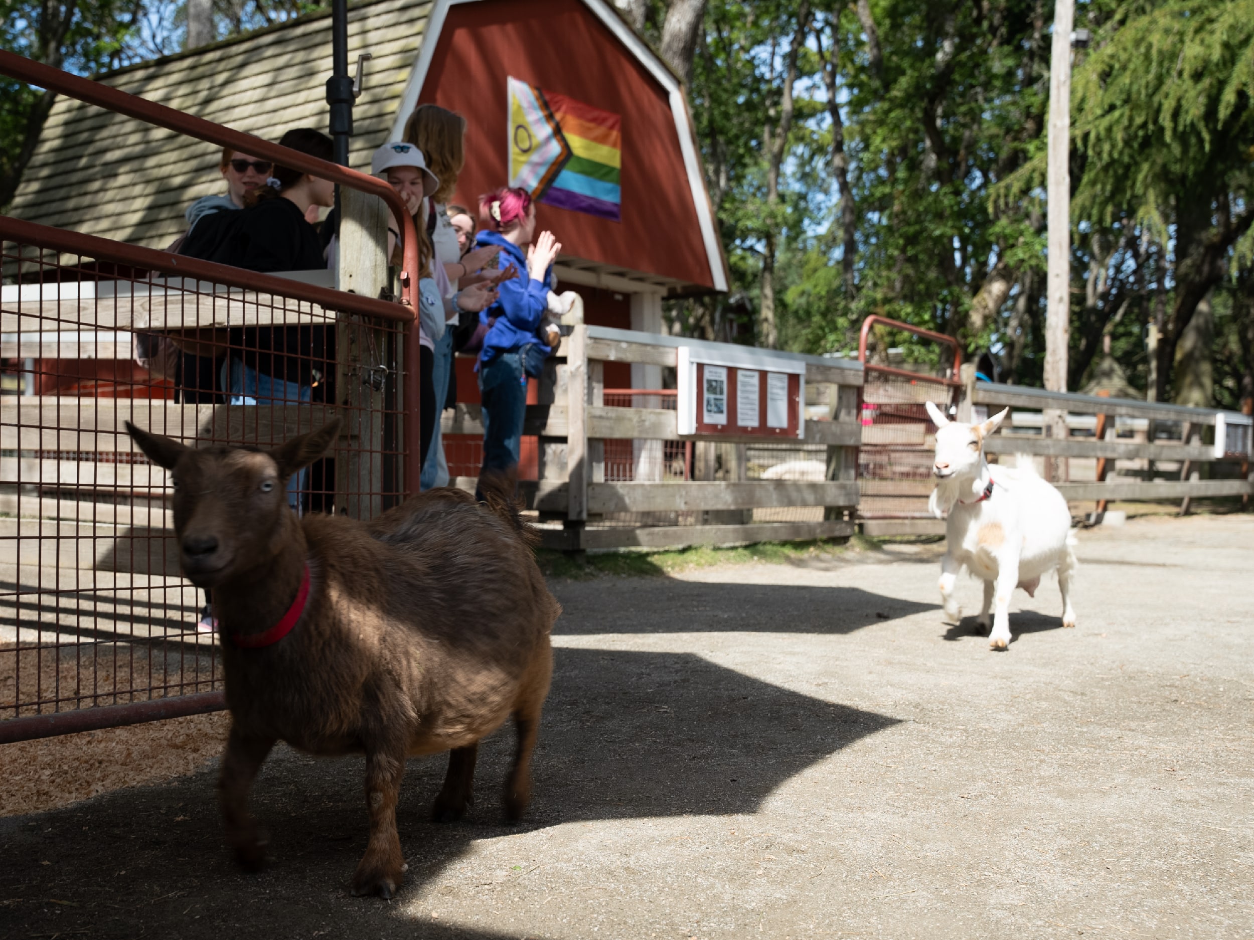
<path fill-rule="evenodd" d="M 478 244 L 498 246 L 500 267 L 515 277 L 502 281 L 497 301 L 479 313 L 488 332 L 479 353 L 483 401 L 483 471 L 513 471 L 523 436 L 527 377 L 537 375 L 551 347 L 540 340 L 553 287 L 553 261 L 562 244 L 552 232 L 535 236 L 535 206 L 525 189 L 502 187 L 479 197 Z M 480 471 L 480 473 L 483 473 Z"/>

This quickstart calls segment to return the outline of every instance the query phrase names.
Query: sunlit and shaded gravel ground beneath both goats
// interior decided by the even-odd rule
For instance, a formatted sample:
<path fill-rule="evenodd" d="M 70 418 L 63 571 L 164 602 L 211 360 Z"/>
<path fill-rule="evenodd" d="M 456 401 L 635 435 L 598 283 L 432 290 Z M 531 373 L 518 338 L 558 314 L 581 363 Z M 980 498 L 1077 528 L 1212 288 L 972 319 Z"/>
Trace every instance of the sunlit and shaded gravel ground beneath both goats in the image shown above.
<path fill-rule="evenodd" d="M 1016 594 L 1006 653 L 940 620 L 935 550 L 557 583 L 525 822 L 426 821 L 410 882 L 346 886 L 361 761 L 278 751 L 275 864 L 221 846 L 212 768 L 0 818 L 0 936 L 1254 935 L 1254 518 L 1081 533 L 1080 625 Z M 0 749 L 0 761 L 10 753 Z"/>

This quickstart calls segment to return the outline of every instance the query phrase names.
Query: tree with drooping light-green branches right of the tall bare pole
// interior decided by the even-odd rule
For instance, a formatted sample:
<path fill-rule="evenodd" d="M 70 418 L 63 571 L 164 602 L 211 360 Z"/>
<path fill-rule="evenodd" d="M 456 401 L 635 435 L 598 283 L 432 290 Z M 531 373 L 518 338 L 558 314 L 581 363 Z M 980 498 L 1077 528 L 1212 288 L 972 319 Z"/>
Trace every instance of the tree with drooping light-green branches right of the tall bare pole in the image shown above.
<path fill-rule="evenodd" d="M 1245 263 L 1254 253 L 1254 0 L 1149 6 L 1120 10 L 1076 69 L 1072 218 L 1126 214 L 1172 244 L 1154 390 L 1166 399 L 1199 302 L 1234 251 Z"/>

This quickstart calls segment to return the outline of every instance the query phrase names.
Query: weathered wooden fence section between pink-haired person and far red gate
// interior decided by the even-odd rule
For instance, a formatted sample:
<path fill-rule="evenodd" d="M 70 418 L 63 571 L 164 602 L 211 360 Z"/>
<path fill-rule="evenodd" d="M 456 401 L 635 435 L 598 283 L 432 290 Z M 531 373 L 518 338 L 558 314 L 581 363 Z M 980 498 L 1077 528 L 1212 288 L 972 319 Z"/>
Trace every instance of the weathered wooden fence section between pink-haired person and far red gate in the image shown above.
<path fill-rule="evenodd" d="M 543 544 L 569 551 L 851 534 L 858 505 L 860 365 L 770 353 L 803 363 L 805 370 L 803 411 L 810 416 L 804 437 L 788 445 L 754 435 L 681 435 L 676 410 L 662 407 L 673 390 L 631 389 L 607 396 L 607 362 L 675 368 L 681 346 L 711 353 L 729 348 L 586 325 L 574 326 L 563 340 L 540 382 L 539 404 L 527 407 L 523 430 L 539 439 L 539 479 L 523 481 L 520 488 L 528 508 L 539 513 Z M 607 404 L 607 397 L 630 397 L 631 404 Z M 455 412 L 445 414 L 443 427 L 445 434 L 483 434 L 479 407 L 458 405 Z M 613 479 L 611 474 L 607 479 L 607 442 L 631 442 L 637 467 L 651 451 L 656 465 L 668 444 L 691 447 L 676 457 L 682 473 L 650 474 L 655 479 L 640 479 L 640 473 L 633 479 Z M 729 450 L 729 459 L 715 467 L 719 449 Z M 755 452 L 800 456 L 791 462 L 804 466 L 782 479 L 752 479 L 755 467 L 746 455 Z M 782 462 L 788 461 L 776 466 Z M 474 483 L 459 478 L 455 485 L 473 489 Z"/>

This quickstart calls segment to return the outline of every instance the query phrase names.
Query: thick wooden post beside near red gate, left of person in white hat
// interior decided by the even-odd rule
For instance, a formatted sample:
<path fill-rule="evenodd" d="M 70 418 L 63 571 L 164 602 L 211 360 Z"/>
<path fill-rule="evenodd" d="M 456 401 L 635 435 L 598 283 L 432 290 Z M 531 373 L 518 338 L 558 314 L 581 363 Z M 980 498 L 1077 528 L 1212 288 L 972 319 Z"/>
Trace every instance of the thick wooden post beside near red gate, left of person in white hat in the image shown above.
<path fill-rule="evenodd" d="M 379 297 L 386 290 L 389 218 L 377 196 L 340 188 L 336 286 L 341 291 Z M 372 519 L 384 509 L 384 397 L 386 384 L 399 379 L 395 370 L 381 368 L 387 348 L 384 331 L 344 313 L 337 317 L 336 404 L 351 444 L 336 451 L 335 506 L 355 519 Z"/>

